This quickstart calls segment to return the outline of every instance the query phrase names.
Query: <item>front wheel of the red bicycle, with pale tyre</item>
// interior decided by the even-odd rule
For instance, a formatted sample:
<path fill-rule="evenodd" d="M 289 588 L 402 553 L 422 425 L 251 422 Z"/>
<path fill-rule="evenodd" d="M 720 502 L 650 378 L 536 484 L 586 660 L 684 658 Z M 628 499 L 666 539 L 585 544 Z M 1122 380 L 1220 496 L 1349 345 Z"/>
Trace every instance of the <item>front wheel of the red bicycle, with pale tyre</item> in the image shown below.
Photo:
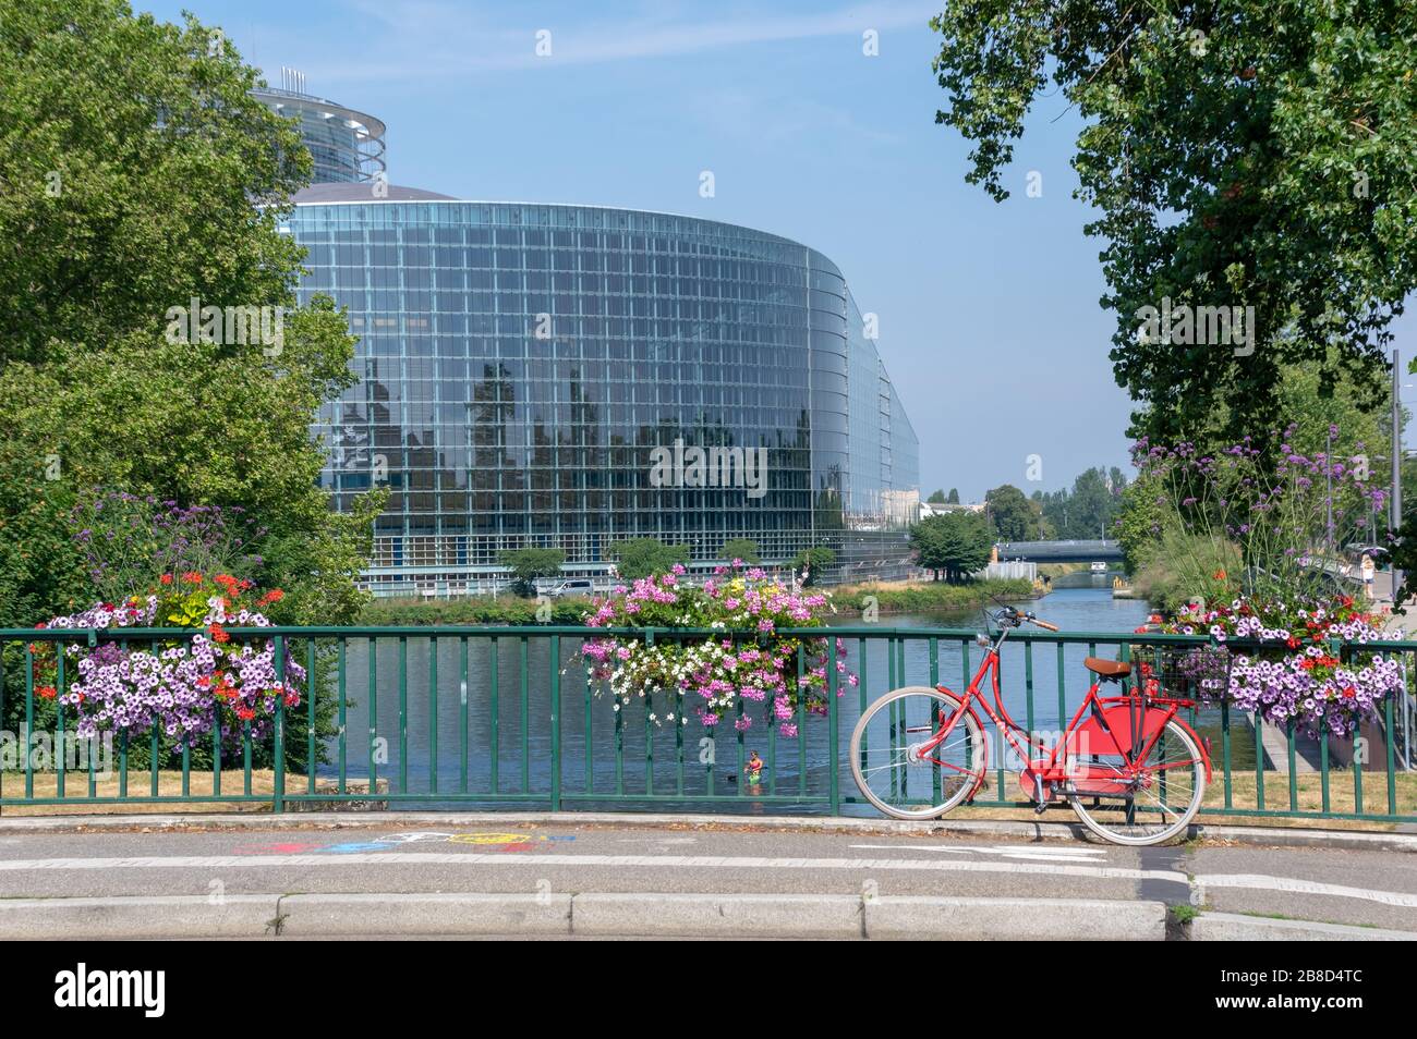
<path fill-rule="evenodd" d="M 942 815 L 975 790 L 986 767 L 983 732 L 959 698 L 922 685 L 896 689 L 867 708 L 852 732 L 852 774 L 866 800 L 900 820 Z"/>

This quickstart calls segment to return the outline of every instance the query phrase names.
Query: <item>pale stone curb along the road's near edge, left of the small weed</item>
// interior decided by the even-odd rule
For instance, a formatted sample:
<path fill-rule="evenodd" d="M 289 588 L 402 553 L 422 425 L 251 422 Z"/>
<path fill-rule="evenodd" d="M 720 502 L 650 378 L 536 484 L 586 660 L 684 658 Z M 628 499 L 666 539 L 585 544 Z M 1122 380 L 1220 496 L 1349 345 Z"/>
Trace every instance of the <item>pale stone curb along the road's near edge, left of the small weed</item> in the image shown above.
<path fill-rule="evenodd" d="M 0 940 L 459 934 L 1162 941 L 1166 906 L 1084 899 L 663 893 L 232 895 L 218 905 L 201 895 L 0 900 Z"/>

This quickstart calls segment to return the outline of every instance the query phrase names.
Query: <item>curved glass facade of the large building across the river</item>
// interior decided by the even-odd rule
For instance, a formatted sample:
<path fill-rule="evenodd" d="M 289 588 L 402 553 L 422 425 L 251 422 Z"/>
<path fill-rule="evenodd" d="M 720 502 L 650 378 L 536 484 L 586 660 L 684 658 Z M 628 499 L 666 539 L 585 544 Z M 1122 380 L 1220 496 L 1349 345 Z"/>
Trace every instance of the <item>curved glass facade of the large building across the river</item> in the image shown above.
<path fill-rule="evenodd" d="M 914 518 L 914 432 L 820 253 L 690 217 L 350 188 L 289 228 L 302 297 L 332 294 L 360 337 L 361 381 L 315 432 L 337 507 L 391 490 L 376 590 L 523 546 L 598 572 L 636 536 L 779 561 Z"/>

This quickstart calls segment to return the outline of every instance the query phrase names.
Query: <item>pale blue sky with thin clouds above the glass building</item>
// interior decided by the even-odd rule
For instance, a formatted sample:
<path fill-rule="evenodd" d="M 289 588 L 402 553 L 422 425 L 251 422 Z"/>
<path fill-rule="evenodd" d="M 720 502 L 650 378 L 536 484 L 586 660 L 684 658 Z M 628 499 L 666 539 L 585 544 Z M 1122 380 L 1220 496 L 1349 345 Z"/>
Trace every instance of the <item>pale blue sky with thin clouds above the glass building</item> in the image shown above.
<path fill-rule="evenodd" d="M 920 436 L 921 491 L 978 500 L 1127 466 L 1131 402 L 1071 198 L 1078 120 L 1036 102 L 996 204 L 937 126 L 934 3 L 136 0 L 220 25 L 279 85 L 388 125 L 394 184 L 459 198 L 710 217 L 820 249 L 863 311 Z M 537 33 L 550 57 L 537 57 Z M 874 30 L 879 55 L 863 54 Z M 716 195 L 699 194 L 700 173 Z M 1029 171 L 1041 197 L 1029 198 Z M 1399 345 L 1411 343 L 1397 326 Z M 1417 379 L 1414 379 L 1417 381 Z M 1408 391 L 1414 394 L 1414 391 Z M 1041 456 L 1041 481 L 1026 478 Z"/>

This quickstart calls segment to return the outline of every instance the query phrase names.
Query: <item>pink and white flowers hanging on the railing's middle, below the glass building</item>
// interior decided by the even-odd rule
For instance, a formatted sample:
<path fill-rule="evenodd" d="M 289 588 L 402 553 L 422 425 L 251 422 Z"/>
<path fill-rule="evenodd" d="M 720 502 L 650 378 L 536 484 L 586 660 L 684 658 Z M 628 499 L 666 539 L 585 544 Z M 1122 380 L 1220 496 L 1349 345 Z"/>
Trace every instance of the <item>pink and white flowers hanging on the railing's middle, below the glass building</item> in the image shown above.
<path fill-rule="evenodd" d="M 616 587 L 595 600 L 585 623 L 615 628 L 708 628 L 723 630 L 724 637 L 704 636 L 686 640 L 648 643 L 628 636 L 591 638 L 581 647 L 592 682 L 615 698 L 615 709 L 633 699 L 648 702 L 655 722 L 684 723 L 674 702 L 656 708 L 653 698 L 696 696 L 693 712 L 713 728 L 745 702 L 762 704 L 768 725 L 777 723 L 785 737 L 798 735 L 794 718 L 799 709 L 823 715 L 828 711 L 828 667 L 839 678 L 837 695 L 857 678 L 846 667 L 846 645 L 840 638 L 781 636 L 778 628 L 822 627 L 828 596 L 794 592 L 758 568 L 720 566 L 703 589 L 684 585 L 684 568 L 642 578 L 632 586 Z M 754 633 L 744 641 L 741 633 Z M 734 638 L 730 633 L 740 634 Z M 796 674 L 798 650 L 806 661 Z M 734 726 L 751 728 L 752 718 L 740 713 Z"/>

